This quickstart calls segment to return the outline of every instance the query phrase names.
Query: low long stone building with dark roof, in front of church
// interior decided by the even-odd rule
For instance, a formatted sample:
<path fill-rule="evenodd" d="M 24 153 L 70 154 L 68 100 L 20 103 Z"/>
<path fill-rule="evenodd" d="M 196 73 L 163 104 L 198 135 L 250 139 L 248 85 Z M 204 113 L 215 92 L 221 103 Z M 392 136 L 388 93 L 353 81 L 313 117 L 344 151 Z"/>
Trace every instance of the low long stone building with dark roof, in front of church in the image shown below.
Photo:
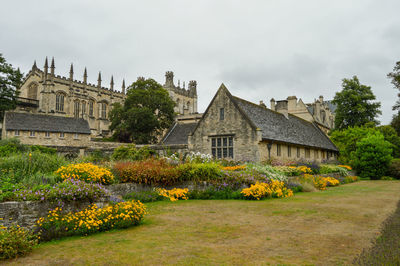
<path fill-rule="evenodd" d="M 86 147 L 90 133 L 89 123 L 83 118 L 7 112 L 2 136 L 16 137 L 29 145 Z"/>

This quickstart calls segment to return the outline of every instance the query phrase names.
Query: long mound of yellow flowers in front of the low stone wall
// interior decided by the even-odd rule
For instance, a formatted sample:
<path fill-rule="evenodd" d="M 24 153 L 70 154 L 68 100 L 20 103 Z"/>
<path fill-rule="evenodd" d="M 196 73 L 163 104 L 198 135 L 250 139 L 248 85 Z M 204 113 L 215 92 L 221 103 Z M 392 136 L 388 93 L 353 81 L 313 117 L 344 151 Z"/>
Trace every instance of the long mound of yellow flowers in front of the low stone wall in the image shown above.
<path fill-rule="evenodd" d="M 66 214 L 57 207 L 47 217 L 36 222 L 36 231 L 43 241 L 64 236 L 88 235 L 137 225 L 145 214 L 146 207 L 140 201 L 120 202 L 104 208 L 93 204 L 82 211 Z"/>

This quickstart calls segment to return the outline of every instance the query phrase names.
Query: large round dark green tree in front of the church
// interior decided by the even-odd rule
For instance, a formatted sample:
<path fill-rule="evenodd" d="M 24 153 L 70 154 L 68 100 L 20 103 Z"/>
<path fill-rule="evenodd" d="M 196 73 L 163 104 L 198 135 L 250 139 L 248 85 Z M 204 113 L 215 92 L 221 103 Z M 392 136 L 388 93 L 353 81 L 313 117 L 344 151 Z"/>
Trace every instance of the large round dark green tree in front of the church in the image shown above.
<path fill-rule="evenodd" d="M 175 103 L 155 80 L 139 78 L 128 87 L 124 105 L 110 112 L 113 137 L 122 142 L 154 143 L 174 120 Z"/>

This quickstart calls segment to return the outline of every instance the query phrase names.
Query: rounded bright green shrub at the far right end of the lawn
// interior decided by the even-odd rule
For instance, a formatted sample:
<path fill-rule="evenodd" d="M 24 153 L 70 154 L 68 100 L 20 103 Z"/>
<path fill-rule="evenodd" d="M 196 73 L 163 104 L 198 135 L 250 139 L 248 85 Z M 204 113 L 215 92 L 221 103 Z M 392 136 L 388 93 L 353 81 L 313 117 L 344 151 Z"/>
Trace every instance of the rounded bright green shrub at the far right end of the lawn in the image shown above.
<path fill-rule="evenodd" d="M 361 177 L 380 179 L 392 160 L 391 144 L 383 135 L 369 135 L 357 143 L 355 167 Z"/>

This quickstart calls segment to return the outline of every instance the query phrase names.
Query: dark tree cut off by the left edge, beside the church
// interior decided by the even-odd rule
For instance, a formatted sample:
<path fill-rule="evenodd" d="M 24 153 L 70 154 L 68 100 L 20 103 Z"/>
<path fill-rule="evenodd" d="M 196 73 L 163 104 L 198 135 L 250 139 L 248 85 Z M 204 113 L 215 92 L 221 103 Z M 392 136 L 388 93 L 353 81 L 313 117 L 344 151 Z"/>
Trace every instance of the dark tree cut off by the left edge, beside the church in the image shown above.
<path fill-rule="evenodd" d="M 19 69 L 14 69 L 0 54 L 0 119 L 3 120 L 4 112 L 15 109 L 17 106 L 18 91 L 22 84 L 23 74 Z"/>

